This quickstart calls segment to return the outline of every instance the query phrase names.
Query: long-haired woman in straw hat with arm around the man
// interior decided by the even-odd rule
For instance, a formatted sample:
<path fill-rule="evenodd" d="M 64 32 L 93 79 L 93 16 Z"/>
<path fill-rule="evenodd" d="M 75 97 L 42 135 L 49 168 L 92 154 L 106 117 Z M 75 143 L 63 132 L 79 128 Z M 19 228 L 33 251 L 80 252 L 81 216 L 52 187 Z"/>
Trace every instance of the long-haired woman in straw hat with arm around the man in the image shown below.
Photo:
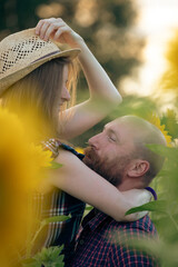
<path fill-rule="evenodd" d="M 67 43 L 72 49 L 60 51 L 49 39 Z M 31 116 L 32 120 L 39 117 L 36 132 L 32 135 L 36 136 L 37 140 L 43 140 L 44 147 L 52 150 L 55 157 L 59 154 L 60 139 L 69 140 L 81 135 L 121 101 L 119 92 L 83 39 L 61 19 L 52 18 L 39 21 L 36 34 L 34 30 L 31 29 L 8 37 L 0 43 L 0 50 L 3 62 L 0 70 L 2 105 L 12 109 L 13 112 L 20 113 L 24 120 L 29 115 L 33 115 L 33 117 Z M 88 82 L 90 98 L 59 115 L 59 107 L 65 101 L 70 100 L 67 85 L 75 83 L 76 68 L 71 59 L 77 55 Z M 61 121 L 65 121 L 65 125 Z M 27 127 L 29 129 L 31 123 L 34 122 L 28 120 Z M 48 140 L 53 137 L 57 137 L 58 140 Z M 65 148 L 71 150 L 69 147 Z M 73 150 L 72 152 L 76 154 Z M 78 156 L 80 157 L 80 155 Z M 134 216 L 127 218 L 125 212 L 139 205 L 138 199 L 145 198 L 145 191 L 140 191 L 138 195 L 138 191 L 135 190 L 123 195 L 83 165 L 80 176 L 82 162 L 70 152 L 60 150 L 60 158 L 67 166 L 62 167 L 63 175 L 66 171 L 67 182 L 63 182 L 63 177 L 60 182 L 61 189 L 91 204 L 117 220 L 137 218 Z M 69 175 L 72 174 L 70 160 L 72 160 L 71 168 L 77 168 L 79 174 L 77 181 Z M 98 187 L 100 195 L 97 194 Z M 49 225 L 37 241 L 37 247 L 60 245 L 65 241 L 69 248 L 69 244 L 71 245 L 76 237 L 85 205 L 70 195 L 60 194 L 56 187 L 51 191 L 48 189 L 43 189 L 43 191 L 44 201 L 38 204 L 39 206 L 37 205 L 42 207 L 41 217 L 71 214 L 71 219 L 63 225 L 59 222 Z M 130 198 L 128 198 L 129 194 Z"/>

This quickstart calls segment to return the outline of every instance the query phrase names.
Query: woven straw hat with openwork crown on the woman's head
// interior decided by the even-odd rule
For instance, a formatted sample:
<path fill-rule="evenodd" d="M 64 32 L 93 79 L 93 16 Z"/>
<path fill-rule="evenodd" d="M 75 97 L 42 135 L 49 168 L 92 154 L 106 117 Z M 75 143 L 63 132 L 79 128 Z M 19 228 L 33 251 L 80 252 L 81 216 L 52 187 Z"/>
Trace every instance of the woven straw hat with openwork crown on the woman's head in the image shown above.
<path fill-rule="evenodd" d="M 80 49 L 61 51 L 51 41 L 43 41 L 34 29 L 10 34 L 0 42 L 0 96 L 7 88 L 44 62 L 61 57 L 73 59 Z"/>

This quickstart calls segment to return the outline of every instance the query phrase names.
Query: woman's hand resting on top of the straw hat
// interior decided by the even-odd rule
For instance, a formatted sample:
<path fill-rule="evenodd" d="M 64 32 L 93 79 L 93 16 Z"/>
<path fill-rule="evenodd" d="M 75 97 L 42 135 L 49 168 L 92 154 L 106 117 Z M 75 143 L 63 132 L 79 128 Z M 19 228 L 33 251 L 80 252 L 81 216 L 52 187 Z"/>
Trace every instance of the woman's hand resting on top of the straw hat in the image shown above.
<path fill-rule="evenodd" d="M 43 19 L 36 27 L 36 34 L 48 41 L 52 39 L 61 43 L 68 43 L 72 48 L 79 48 L 83 39 L 75 32 L 62 19 Z"/>

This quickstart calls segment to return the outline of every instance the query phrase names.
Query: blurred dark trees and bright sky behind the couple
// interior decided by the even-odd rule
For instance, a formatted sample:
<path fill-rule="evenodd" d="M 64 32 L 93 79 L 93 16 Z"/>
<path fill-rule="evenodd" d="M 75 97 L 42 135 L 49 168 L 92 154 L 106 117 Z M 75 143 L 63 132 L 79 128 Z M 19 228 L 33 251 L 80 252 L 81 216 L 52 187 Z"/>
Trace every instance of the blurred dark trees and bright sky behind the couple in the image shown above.
<path fill-rule="evenodd" d="M 125 98 L 113 115 L 72 140 L 83 147 L 117 116 L 177 108 L 177 0 L 0 0 L 0 40 L 50 17 L 61 17 L 83 37 Z M 87 97 L 81 75 L 78 101 Z"/>

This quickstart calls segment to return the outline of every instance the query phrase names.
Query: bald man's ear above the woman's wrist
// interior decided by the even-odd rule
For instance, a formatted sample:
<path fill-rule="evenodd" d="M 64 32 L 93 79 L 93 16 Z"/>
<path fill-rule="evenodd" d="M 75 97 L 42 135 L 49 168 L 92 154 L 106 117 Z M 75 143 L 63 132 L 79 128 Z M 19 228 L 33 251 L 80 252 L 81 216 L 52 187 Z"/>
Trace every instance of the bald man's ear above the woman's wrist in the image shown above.
<path fill-rule="evenodd" d="M 132 160 L 128 167 L 127 175 L 129 177 L 141 177 L 149 169 L 149 162 L 147 160 L 136 159 Z"/>

